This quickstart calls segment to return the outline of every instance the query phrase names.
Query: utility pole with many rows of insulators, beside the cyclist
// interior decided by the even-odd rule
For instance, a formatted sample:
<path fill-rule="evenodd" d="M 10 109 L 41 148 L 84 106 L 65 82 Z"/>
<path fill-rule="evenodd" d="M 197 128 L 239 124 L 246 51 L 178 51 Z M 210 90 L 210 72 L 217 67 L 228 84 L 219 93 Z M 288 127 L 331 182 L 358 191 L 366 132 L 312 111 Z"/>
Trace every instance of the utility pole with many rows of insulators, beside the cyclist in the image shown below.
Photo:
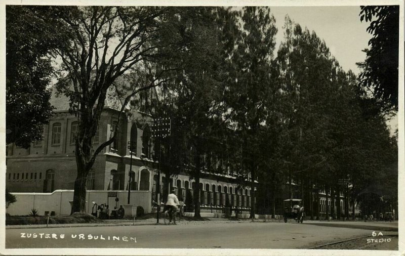
<path fill-rule="evenodd" d="M 159 168 L 157 171 L 157 184 L 156 184 L 156 202 L 157 202 L 157 214 L 156 223 L 159 223 L 160 212 L 160 141 L 161 138 L 165 138 L 171 135 L 172 121 L 169 117 L 158 118 L 152 125 L 151 134 L 152 138 L 158 138 L 159 145 Z"/>

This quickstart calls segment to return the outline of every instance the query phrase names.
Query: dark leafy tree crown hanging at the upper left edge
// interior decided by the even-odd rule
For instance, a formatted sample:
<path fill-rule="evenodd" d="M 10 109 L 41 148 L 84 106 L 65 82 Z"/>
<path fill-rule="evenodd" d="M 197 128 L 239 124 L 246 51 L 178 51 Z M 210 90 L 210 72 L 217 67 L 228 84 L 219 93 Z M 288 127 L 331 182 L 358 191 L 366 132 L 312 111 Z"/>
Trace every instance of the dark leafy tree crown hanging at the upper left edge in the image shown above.
<path fill-rule="evenodd" d="M 53 114 L 48 90 L 53 77 L 49 51 L 68 40 L 55 34 L 49 7 L 6 7 L 6 142 L 28 148 L 42 140 Z"/>

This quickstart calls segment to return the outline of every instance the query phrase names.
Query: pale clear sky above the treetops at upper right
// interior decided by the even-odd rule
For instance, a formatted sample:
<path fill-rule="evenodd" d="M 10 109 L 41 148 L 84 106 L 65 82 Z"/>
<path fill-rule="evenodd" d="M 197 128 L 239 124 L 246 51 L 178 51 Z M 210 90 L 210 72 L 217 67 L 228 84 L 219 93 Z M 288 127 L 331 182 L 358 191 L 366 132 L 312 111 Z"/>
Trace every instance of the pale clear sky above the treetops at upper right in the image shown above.
<path fill-rule="evenodd" d="M 366 29 L 369 23 L 360 22 L 359 6 L 328 6 L 328 7 L 270 7 L 278 28 L 276 36 L 276 49 L 284 37 L 284 18 L 290 18 L 315 31 L 316 35 L 325 40 L 331 54 L 335 56 L 345 71 L 351 69 L 355 74 L 360 70 L 356 62 L 366 59 L 366 54 L 361 50 L 368 48 L 371 38 Z"/>

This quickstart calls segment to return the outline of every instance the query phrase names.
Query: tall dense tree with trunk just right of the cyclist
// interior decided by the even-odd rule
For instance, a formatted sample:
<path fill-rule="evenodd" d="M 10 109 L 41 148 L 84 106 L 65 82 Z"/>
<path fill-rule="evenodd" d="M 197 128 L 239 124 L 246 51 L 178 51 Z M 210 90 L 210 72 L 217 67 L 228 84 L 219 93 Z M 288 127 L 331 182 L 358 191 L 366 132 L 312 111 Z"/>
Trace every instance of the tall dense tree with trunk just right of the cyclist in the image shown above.
<path fill-rule="evenodd" d="M 161 91 L 160 115 L 170 116 L 173 123 L 162 163 L 166 177 L 182 170 L 195 179 L 194 217 L 199 218 L 200 178 L 216 164 L 209 161 L 211 156 L 221 155 L 225 60 L 233 49 L 235 16 L 220 7 L 187 8 L 180 10 L 179 20 L 185 45 L 173 58 L 184 65 L 171 72 L 176 78 Z"/>

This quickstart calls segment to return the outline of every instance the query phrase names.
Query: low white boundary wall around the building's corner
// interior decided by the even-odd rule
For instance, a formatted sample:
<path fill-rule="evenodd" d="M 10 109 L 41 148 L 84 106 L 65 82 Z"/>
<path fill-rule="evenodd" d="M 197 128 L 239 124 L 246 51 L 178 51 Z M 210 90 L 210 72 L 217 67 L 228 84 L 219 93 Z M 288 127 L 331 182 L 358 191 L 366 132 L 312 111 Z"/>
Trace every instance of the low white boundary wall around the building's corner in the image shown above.
<path fill-rule="evenodd" d="M 91 214 L 93 203 L 107 203 L 110 210 L 114 209 L 115 197 L 109 197 L 105 190 L 88 190 L 86 195 L 86 211 Z M 119 190 L 117 206 L 125 205 L 128 202 L 128 191 Z M 73 200 L 73 190 L 55 190 L 52 193 L 11 193 L 16 196 L 17 201 L 9 206 L 7 213 L 10 215 L 29 215 L 31 209 L 36 209 L 38 215 L 45 215 L 45 211 L 55 211 L 55 215 L 70 215 L 70 203 Z M 131 204 L 142 206 L 145 214 L 152 210 L 152 193 L 150 191 L 131 191 Z"/>

